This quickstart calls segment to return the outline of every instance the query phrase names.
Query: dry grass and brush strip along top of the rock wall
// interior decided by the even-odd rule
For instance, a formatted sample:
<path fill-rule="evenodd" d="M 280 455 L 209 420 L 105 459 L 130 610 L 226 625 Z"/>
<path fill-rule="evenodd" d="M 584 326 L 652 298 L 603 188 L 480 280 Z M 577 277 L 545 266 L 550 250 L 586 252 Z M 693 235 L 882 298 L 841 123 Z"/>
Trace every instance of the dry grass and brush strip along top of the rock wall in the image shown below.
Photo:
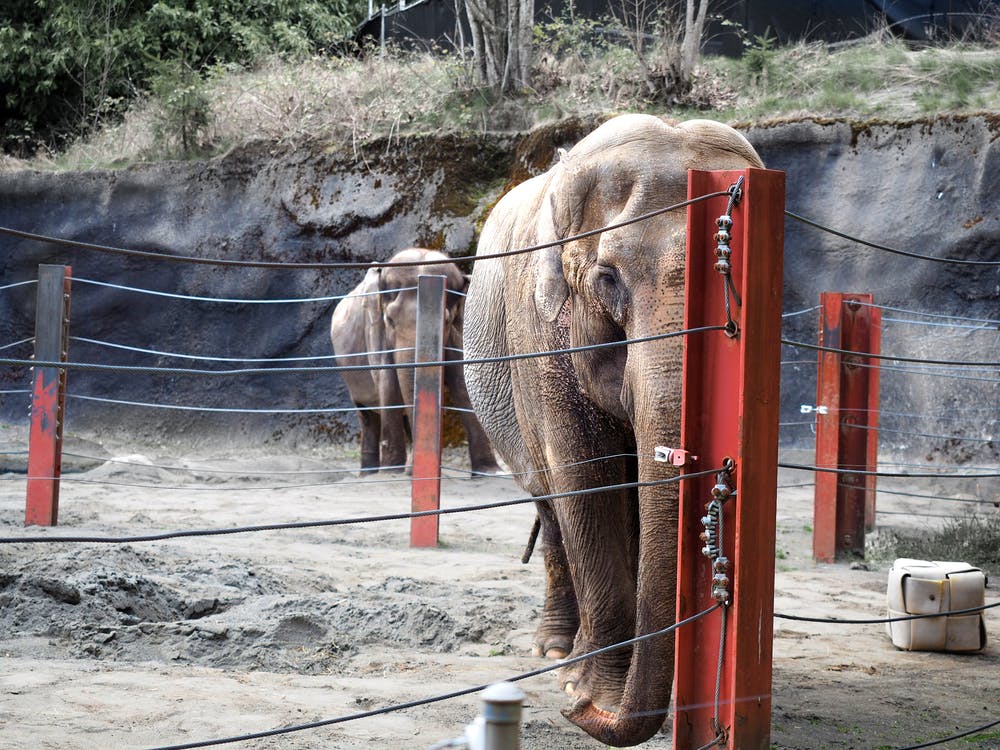
<path fill-rule="evenodd" d="M 652 111 L 728 122 L 793 116 L 914 119 L 1000 111 L 1000 48 L 913 47 L 875 35 L 831 49 L 776 47 L 758 39 L 741 59 L 705 58 L 683 100 L 650 99 L 634 52 L 594 41 L 586 27 L 539 29 L 535 87 L 497 99 L 457 54 L 389 49 L 361 57 L 268 60 L 251 70 L 217 68 L 202 81 L 197 148 L 182 153 L 177 113 L 139 101 L 65 153 L 32 166 L 74 169 L 204 157 L 254 140 L 317 139 L 351 148 L 409 133 L 523 131 L 570 115 Z M 181 114 L 181 117 L 187 116 Z M 173 119 L 172 119 L 173 118 Z M 8 161 L 8 166 L 20 163 Z"/>

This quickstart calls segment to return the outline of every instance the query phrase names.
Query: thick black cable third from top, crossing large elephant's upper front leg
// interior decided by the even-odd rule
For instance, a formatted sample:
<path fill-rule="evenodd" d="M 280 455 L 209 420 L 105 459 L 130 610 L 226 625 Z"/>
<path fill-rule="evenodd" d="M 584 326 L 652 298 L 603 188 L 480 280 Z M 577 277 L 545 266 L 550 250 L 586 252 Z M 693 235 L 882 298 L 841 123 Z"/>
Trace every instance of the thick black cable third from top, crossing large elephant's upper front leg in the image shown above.
<path fill-rule="evenodd" d="M 255 526 L 235 526 L 230 529 L 188 529 L 187 531 L 164 531 L 159 534 L 138 534 L 126 537 L 109 536 L 21 536 L 21 537 L 0 537 L 0 544 L 51 544 L 57 542 L 73 544 L 137 544 L 140 542 L 160 542 L 168 539 L 182 539 L 188 537 L 206 536 L 227 536 L 231 534 L 246 534 L 258 531 L 282 531 L 286 529 L 312 529 L 326 528 L 330 526 L 349 526 L 356 523 L 374 523 L 381 521 L 400 521 L 407 518 L 423 518 L 425 516 L 446 516 L 454 513 L 469 513 L 473 511 L 492 510 L 494 508 L 507 508 L 513 505 L 524 505 L 540 500 L 558 500 L 567 497 L 579 497 L 581 495 L 594 495 L 599 492 L 616 490 L 637 489 L 640 487 L 656 487 L 664 484 L 674 484 L 686 479 L 696 479 L 698 477 L 709 476 L 719 469 L 709 469 L 706 471 L 681 474 L 668 479 L 658 479 L 652 482 L 623 482 L 622 484 L 612 484 L 604 487 L 588 488 L 584 490 L 571 490 L 569 492 L 556 492 L 550 495 L 538 495 L 537 497 L 522 497 L 513 500 L 501 500 L 495 503 L 482 503 L 479 505 L 463 505 L 460 508 L 438 508 L 437 510 L 421 510 L 411 513 L 389 513 L 381 516 L 364 516 L 362 518 L 339 518 L 325 521 L 295 521 L 291 523 L 269 523 Z"/>

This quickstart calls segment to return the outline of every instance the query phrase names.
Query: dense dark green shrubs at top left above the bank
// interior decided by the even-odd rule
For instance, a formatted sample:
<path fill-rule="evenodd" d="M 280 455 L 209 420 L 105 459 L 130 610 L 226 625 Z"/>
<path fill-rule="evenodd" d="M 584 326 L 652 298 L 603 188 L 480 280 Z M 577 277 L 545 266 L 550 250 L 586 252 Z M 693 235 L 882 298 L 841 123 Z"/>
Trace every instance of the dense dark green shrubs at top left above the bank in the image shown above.
<path fill-rule="evenodd" d="M 330 50 L 359 12 L 351 0 L 6 0 L 0 145 L 60 147 L 120 116 L 164 66 Z"/>

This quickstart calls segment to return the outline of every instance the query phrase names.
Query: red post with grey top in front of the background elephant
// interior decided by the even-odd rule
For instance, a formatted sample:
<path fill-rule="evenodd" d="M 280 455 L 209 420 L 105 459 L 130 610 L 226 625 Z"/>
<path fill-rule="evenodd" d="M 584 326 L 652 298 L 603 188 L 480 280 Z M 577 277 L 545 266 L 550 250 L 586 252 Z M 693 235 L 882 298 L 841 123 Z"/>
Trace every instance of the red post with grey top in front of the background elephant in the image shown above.
<path fill-rule="evenodd" d="M 444 276 L 417 281 L 417 342 L 415 362 L 444 360 Z M 418 367 L 413 383 L 414 513 L 441 507 L 441 367 Z M 411 547 L 436 547 L 437 515 L 410 521 Z"/>

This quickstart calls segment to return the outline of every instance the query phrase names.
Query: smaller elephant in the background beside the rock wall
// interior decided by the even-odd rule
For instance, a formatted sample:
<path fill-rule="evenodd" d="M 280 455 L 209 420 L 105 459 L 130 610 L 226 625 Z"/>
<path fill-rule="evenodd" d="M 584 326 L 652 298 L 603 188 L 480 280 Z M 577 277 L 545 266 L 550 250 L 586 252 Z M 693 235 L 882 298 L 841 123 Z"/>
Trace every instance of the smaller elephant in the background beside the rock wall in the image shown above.
<path fill-rule="evenodd" d="M 410 248 L 392 262 L 445 260 L 435 250 Z M 384 365 L 411 363 L 417 333 L 417 278 L 424 274 L 446 277 L 445 358 L 460 360 L 462 311 L 468 277 L 454 263 L 371 268 L 351 293 L 333 311 L 330 338 L 338 365 Z M 457 350 L 457 351 L 456 351 Z M 357 356 L 344 356 L 357 355 Z M 413 405 L 413 369 L 381 369 L 343 372 L 341 375 L 360 409 L 361 469 L 402 470 L 407 463 L 410 436 L 408 409 Z M 450 403 L 466 409 L 460 413 L 469 440 L 473 472 L 499 471 L 489 438 L 471 411 L 462 368 L 444 368 L 444 383 Z"/>

